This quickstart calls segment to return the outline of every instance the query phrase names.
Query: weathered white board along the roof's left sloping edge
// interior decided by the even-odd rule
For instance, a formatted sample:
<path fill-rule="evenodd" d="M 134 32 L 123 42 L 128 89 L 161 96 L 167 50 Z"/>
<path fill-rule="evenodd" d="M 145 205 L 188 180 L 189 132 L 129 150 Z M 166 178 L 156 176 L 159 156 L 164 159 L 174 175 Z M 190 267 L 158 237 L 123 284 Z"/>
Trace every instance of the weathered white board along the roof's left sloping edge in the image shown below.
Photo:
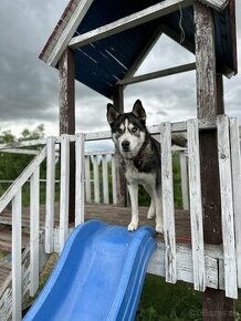
<path fill-rule="evenodd" d="M 64 30 L 61 32 L 60 38 L 57 39 L 56 43 L 54 43 L 54 48 L 46 55 L 46 58 L 43 59 L 49 65 L 55 66 L 57 64 L 62 53 L 64 52 L 65 48 L 67 46 L 71 38 L 73 37 L 74 32 L 76 31 L 78 24 L 81 23 L 82 19 L 84 18 L 85 13 L 87 12 L 92 2 L 93 2 L 93 0 L 78 1 L 78 4 L 75 8 L 74 12 L 72 13 L 70 21 L 67 22 Z"/>

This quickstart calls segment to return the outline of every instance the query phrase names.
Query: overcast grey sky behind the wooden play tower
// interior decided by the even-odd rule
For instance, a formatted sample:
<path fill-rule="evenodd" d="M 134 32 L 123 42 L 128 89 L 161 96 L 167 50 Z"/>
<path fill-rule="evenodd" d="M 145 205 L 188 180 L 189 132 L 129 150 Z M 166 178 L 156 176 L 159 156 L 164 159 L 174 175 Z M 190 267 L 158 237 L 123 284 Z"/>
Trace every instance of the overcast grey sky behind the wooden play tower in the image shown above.
<path fill-rule="evenodd" d="M 0 1 L 0 128 L 19 135 L 44 124 L 48 135 L 59 134 L 57 71 L 39 53 L 69 0 Z M 237 2 L 238 59 L 241 73 L 241 1 Z M 195 56 L 161 37 L 138 74 L 193 62 Z M 241 74 L 224 80 L 226 112 L 241 122 Z M 143 101 L 148 125 L 196 116 L 195 72 L 129 85 L 125 107 Z M 107 130 L 107 99 L 76 83 L 76 131 Z M 96 117 L 97 115 L 97 117 Z"/>

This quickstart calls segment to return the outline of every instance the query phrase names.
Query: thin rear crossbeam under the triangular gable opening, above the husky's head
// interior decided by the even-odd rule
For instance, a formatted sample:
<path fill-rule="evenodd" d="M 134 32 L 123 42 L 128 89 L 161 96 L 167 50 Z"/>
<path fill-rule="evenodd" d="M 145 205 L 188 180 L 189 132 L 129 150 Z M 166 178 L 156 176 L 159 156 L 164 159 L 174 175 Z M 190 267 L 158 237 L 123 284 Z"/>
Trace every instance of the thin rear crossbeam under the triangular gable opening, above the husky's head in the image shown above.
<path fill-rule="evenodd" d="M 118 81 L 117 84 L 118 85 L 135 84 L 135 83 L 144 82 L 144 81 L 148 81 L 148 80 L 153 80 L 153 79 L 157 79 L 157 77 L 163 77 L 163 76 L 167 76 L 167 75 L 171 75 L 171 74 L 188 72 L 191 70 L 196 70 L 195 62 L 184 64 L 184 65 L 177 65 L 177 66 L 172 66 L 172 68 L 168 68 L 165 70 L 155 71 L 155 72 L 150 72 L 150 73 L 133 76 L 133 77 L 125 77 L 125 79 Z"/>

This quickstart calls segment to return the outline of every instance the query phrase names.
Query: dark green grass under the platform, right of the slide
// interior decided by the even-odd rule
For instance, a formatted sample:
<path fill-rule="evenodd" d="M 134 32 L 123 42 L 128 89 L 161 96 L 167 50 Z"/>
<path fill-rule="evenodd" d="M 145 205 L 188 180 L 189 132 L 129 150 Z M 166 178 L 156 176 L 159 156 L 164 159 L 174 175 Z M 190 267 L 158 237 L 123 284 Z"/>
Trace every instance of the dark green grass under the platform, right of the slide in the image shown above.
<path fill-rule="evenodd" d="M 169 284 L 164 278 L 146 276 L 136 321 L 198 321 L 200 315 L 201 293 L 191 284 Z"/>

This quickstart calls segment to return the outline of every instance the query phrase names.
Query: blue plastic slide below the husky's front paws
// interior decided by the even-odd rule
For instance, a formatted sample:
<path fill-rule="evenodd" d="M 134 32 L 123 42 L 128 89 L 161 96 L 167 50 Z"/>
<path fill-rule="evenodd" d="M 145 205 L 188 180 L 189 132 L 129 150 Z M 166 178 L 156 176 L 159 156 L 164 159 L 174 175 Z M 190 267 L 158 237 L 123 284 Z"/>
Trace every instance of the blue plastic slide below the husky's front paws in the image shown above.
<path fill-rule="evenodd" d="M 150 227 L 128 232 L 99 220 L 80 225 L 23 320 L 134 320 L 154 234 Z"/>

